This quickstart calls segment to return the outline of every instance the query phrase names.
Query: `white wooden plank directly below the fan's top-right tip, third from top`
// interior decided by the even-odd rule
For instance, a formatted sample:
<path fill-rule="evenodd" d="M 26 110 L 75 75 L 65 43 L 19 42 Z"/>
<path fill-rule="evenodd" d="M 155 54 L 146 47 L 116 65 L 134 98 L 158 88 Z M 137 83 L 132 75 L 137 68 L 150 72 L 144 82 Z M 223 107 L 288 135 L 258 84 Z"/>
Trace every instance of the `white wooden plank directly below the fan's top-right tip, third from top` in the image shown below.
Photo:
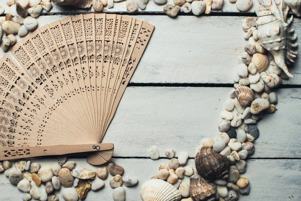
<path fill-rule="evenodd" d="M 194 157 L 204 138 L 219 133 L 220 113 L 231 90 L 127 87 L 103 142 L 115 144 L 115 156 L 147 157 L 145 150 L 156 145 L 162 157 L 168 148 Z M 301 89 L 281 89 L 277 94 L 277 111 L 258 124 L 260 137 L 252 158 L 301 157 Z"/>

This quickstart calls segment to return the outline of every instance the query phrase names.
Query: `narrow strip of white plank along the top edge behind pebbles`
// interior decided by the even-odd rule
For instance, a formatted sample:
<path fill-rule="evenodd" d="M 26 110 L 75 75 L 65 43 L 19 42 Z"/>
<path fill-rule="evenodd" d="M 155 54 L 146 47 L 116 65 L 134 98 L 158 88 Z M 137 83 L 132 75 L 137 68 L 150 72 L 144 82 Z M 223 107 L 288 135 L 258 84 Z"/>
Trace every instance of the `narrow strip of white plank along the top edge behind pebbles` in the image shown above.
<path fill-rule="evenodd" d="M 5 2 L 5 0 L 3 0 Z M 264 2 L 268 3 L 268 0 L 264 0 Z M 278 1 L 276 1 L 278 2 Z M 167 0 L 167 4 L 172 4 L 173 0 Z M 87 12 L 94 12 L 93 8 L 91 7 L 90 9 L 80 9 L 80 8 L 75 8 L 72 6 L 59 6 L 53 4 L 52 10 L 48 14 L 77 14 L 77 13 L 87 13 Z M 145 10 L 138 9 L 137 13 L 164 13 L 163 8 L 165 5 L 158 5 L 154 1 L 149 1 L 148 4 L 146 5 Z M 222 10 L 219 11 L 211 11 L 212 13 L 254 13 L 257 10 L 259 3 L 257 0 L 253 0 L 253 6 L 247 11 L 247 12 L 240 12 L 236 9 L 235 3 L 230 3 L 229 0 L 224 0 L 224 6 Z M 7 4 L 3 4 L 5 6 L 6 13 L 9 12 L 9 7 Z M 126 13 L 126 1 L 122 1 L 119 3 L 114 3 L 114 7 L 111 9 L 108 9 L 105 7 L 102 12 L 105 13 L 112 13 L 112 12 L 118 12 L 118 13 Z M 43 11 L 43 13 L 47 14 L 46 11 Z"/>

